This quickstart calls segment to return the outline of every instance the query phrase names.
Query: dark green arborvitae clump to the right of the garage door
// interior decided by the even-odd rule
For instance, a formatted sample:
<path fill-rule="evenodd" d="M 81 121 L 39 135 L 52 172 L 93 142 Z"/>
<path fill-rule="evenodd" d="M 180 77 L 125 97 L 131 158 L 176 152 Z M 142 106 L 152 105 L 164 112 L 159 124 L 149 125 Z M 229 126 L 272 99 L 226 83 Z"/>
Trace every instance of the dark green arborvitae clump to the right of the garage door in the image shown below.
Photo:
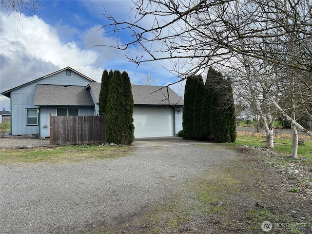
<path fill-rule="evenodd" d="M 230 79 L 210 68 L 205 85 L 201 76 L 186 80 L 183 138 L 234 142 L 235 107 Z"/>

